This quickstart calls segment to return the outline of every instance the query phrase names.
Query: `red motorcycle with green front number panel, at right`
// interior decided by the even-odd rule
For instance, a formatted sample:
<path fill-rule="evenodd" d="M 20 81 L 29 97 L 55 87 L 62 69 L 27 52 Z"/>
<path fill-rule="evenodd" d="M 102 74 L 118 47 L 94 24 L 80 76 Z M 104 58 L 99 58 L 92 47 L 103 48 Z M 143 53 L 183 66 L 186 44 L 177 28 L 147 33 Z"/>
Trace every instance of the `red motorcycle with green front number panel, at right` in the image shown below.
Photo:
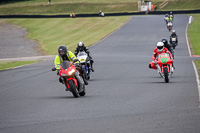
<path fill-rule="evenodd" d="M 173 60 L 170 59 L 170 55 L 168 53 L 162 53 L 158 56 L 156 67 L 158 68 L 158 73 L 164 78 L 166 83 L 169 82 L 169 79 L 174 71 L 172 63 Z"/>

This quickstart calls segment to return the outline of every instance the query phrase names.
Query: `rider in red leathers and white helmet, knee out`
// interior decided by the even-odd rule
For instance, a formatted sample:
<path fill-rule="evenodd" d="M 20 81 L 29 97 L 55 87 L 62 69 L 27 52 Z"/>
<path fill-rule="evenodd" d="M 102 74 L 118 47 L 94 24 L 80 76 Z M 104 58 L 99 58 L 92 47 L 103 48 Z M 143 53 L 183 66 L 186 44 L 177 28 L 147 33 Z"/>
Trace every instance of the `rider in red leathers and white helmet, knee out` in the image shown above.
<path fill-rule="evenodd" d="M 156 48 L 153 50 L 153 56 L 152 56 L 152 62 L 150 62 L 149 64 L 149 68 L 151 69 L 157 69 L 156 64 L 157 64 L 157 57 L 158 55 L 162 54 L 162 53 L 169 53 L 170 58 L 173 60 L 172 54 L 168 51 L 167 48 L 164 47 L 164 43 L 163 42 L 158 42 L 156 44 Z"/>

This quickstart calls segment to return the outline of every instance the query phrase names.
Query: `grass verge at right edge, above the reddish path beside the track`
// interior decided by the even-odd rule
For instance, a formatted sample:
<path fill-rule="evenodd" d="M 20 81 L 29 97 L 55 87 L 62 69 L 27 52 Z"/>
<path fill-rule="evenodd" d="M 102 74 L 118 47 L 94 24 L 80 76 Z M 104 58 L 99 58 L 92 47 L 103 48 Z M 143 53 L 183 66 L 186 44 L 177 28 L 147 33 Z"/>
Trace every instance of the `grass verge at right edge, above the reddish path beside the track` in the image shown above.
<path fill-rule="evenodd" d="M 192 44 L 192 54 L 200 55 L 200 14 L 194 14 L 193 21 L 189 25 L 188 35 Z"/>

